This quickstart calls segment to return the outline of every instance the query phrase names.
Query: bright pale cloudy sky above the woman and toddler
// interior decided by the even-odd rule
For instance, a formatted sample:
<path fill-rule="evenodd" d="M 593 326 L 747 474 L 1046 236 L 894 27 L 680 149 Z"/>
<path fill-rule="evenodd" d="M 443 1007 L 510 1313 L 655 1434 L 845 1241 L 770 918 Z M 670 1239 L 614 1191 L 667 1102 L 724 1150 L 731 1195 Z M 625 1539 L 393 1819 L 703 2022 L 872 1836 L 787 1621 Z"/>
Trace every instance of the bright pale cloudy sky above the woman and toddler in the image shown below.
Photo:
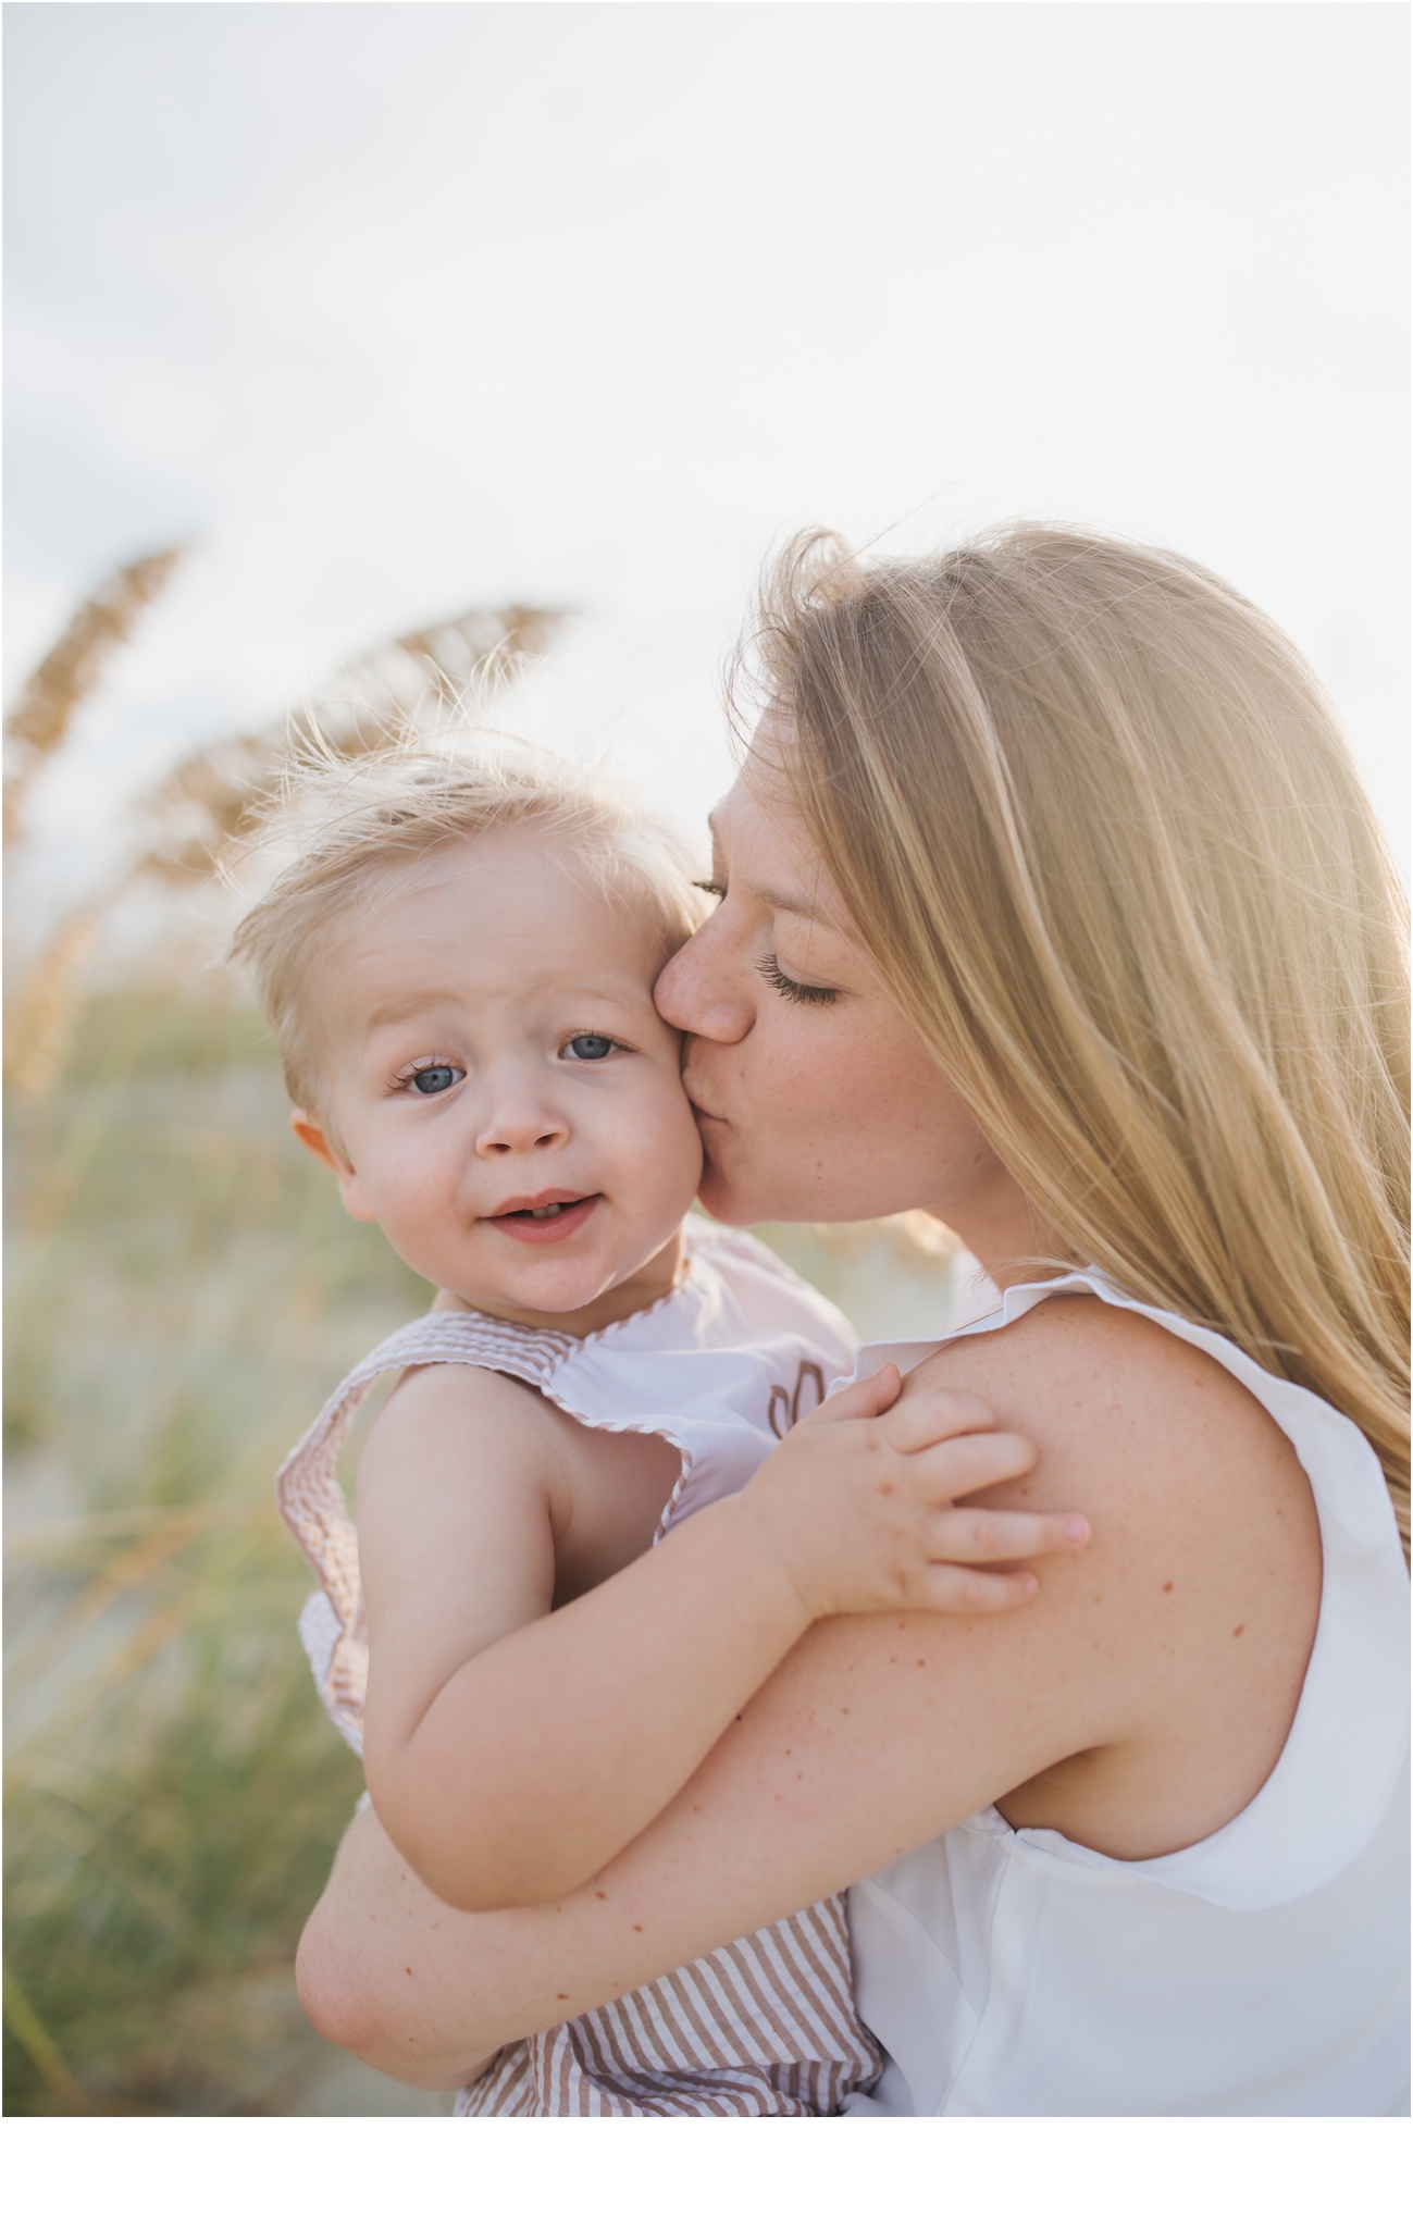
<path fill-rule="evenodd" d="M 695 818 L 771 541 L 1012 515 L 1268 606 L 1406 856 L 1406 9 L 4 18 L 11 688 L 198 541 L 36 800 L 53 889 L 178 749 L 477 599 L 573 606 L 562 740 Z"/>

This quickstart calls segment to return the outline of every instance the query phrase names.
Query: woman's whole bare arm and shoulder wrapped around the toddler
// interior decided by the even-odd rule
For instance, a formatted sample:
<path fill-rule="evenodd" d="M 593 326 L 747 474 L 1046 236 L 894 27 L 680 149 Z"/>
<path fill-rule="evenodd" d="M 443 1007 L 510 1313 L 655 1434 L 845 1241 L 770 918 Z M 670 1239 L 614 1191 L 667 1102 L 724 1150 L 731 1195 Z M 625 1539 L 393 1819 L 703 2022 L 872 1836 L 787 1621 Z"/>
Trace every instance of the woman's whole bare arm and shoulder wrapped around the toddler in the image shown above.
<path fill-rule="evenodd" d="M 450 1912 L 359 1818 L 301 1947 L 321 2032 L 448 2085 L 987 1802 L 1146 1856 L 1253 1798 L 1319 1611 L 1308 1484 L 1264 1410 L 1097 1301 L 1045 1303 L 918 1377 L 978 1393 L 1043 1444 L 1003 1497 L 1085 1506 L 1088 1555 L 1056 1562 L 1019 1618 L 816 1624 L 664 1816 L 553 1905 Z"/>

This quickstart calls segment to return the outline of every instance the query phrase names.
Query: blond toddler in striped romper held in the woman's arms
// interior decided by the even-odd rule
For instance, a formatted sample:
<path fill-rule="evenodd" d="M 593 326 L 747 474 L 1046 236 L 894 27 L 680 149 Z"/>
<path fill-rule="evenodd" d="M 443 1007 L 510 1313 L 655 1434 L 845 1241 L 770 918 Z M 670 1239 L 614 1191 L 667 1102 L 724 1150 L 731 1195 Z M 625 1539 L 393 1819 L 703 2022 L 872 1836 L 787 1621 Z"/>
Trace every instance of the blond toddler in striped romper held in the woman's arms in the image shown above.
<path fill-rule="evenodd" d="M 281 820 L 296 858 L 234 949 L 294 1134 L 441 1294 L 281 1470 L 321 1589 L 301 1633 L 428 1887 L 544 1903 L 657 1816 L 811 1618 L 947 1606 L 936 1511 L 1034 1455 L 956 1404 L 863 1428 L 896 1372 L 813 1419 L 849 1326 L 686 1212 L 702 1147 L 653 980 L 702 898 L 671 836 L 528 751 L 312 762 Z M 354 1537 L 334 1457 L 390 1370 Z M 998 1522 L 992 1562 L 1068 1544 Z M 990 1584 L 1005 1606 L 1034 1580 Z M 513 2043 L 457 2112 L 829 2114 L 878 2068 L 834 1896 Z"/>

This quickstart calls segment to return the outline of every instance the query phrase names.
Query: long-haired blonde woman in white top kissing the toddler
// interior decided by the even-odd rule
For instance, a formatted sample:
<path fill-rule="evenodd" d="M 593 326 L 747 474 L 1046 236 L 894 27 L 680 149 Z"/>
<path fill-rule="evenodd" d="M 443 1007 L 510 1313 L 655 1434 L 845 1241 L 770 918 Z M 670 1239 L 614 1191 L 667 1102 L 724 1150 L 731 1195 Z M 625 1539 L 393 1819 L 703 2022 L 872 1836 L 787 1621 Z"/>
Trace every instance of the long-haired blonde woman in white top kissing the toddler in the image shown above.
<path fill-rule="evenodd" d="M 860 1883 L 860 2112 L 1402 2112 L 1402 936 L 1333 713 L 1221 582 L 1063 530 L 805 539 L 758 642 L 657 991 L 704 1203 L 949 1223 L 1005 1303 L 905 1359 L 1092 1546 L 1012 1618 L 816 1626 L 553 1909 L 444 1909 L 363 1814 L 305 2007 L 450 2088 Z"/>

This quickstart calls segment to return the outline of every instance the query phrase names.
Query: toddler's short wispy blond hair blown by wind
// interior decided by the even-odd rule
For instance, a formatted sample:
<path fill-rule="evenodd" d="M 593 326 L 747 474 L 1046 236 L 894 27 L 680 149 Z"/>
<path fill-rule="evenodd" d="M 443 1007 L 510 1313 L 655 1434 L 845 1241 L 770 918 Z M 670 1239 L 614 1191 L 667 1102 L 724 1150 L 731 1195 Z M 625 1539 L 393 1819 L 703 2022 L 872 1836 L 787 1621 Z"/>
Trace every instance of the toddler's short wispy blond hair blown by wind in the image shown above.
<path fill-rule="evenodd" d="M 325 1112 L 314 983 L 339 936 L 441 844 L 504 829 L 564 838 L 597 887 L 646 911 L 664 962 L 704 913 L 689 849 L 669 827 L 528 742 L 452 733 L 357 760 L 310 742 L 285 766 L 256 836 L 256 851 L 285 853 L 285 864 L 230 945 L 254 976 L 296 1107 Z"/>

